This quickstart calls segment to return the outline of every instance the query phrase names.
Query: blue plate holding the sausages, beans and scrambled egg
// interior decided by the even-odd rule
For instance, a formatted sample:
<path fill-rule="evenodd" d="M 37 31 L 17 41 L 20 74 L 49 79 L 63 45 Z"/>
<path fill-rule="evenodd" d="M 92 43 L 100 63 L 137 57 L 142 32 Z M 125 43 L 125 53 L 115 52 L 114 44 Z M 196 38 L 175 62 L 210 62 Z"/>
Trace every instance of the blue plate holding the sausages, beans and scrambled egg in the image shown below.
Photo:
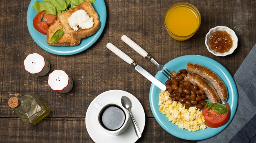
<path fill-rule="evenodd" d="M 163 115 L 159 111 L 158 95 L 160 93 L 160 89 L 153 84 L 151 84 L 150 91 L 149 91 L 150 108 L 158 124 L 173 136 L 181 139 L 191 140 L 191 141 L 208 139 L 220 133 L 222 130 L 224 130 L 233 119 L 236 113 L 237 100 L 238 100 L 236 84 L 232 76 L 227 71 L 227 69 L 225 69 L 225 67 L 223 67 L 217 61 L 214 61 L 213 59 L 205 56 L 199 56 L 199 55 L 180 56 L 166 63 L 165 67 L 167 67 L 170 71 L 177 72 L 180 69 L 186 69 L 186 64 L 188 62 L 198 63 L 200 65 L 204 65 L 205 67 L 208 67 L 209 69 L 213 70 L 213 72 L 218 74 L 218 76 L 220 76 L 220 78 L 223 80 L 223 82 L 227 86 L 227 90 L 229 93 L 227 103 L 229 103 L 229 106 L 231 109 L 230 119 L 227 122 L 227 124 L 219 128 L 206 128 L 205 130 L 198 130 L 196 132 L 189 132 L 186 129 L 184 130 L 180 129 L 177 125 L 172 124 L 170 121 L 168 121 L 168 118 L 166 117 L 166 115 Z M 160 72 L 157 72 L 157 74 L 155 75 L 155 78 L 157 78 L 159 81 L 163 83 L 165 83 L 165 81 L 167 80 L 167 78 Z"/>

